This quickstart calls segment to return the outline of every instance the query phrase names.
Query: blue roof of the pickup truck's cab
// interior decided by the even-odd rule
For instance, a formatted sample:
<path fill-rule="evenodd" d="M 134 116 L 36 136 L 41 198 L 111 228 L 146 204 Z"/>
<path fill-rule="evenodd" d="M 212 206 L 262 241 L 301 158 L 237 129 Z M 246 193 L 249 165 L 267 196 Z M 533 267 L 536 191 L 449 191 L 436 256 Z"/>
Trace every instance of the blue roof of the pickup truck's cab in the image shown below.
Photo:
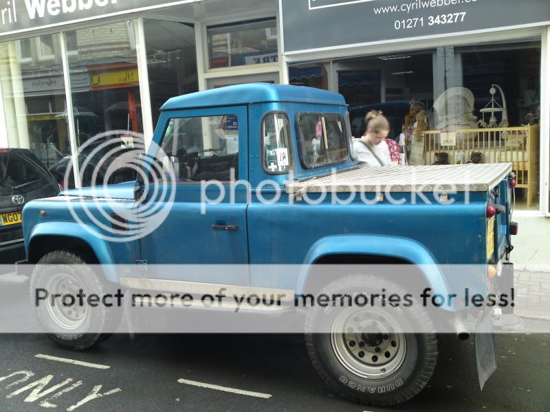
<path fill-rule="evenodd" d="M 287 84 L 248 83 L 189 93 L 168 100 L 161 111 L 212 106 L 240 106 L 267 102 L 296 102 L 346 106 L 342 95 L 331 91 Z"/>

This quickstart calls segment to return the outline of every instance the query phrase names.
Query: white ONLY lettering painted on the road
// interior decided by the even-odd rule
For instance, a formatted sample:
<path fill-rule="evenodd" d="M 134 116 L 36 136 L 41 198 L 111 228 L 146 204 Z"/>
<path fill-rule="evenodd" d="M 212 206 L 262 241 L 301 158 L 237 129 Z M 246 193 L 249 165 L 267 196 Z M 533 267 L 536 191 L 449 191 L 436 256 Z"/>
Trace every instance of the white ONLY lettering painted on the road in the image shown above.
<path fill-rule="evenodd" d="M 25 392 L 29 392 L 27 397 L 23 399 L 23 402 L 33 403 L 41 400 L 39 405 L 43 408 L 55 408 L 58 405 L 54 403 L 58 402 L 58 399 L 65 393 L 69 393 L 74 389 L 83 385 L 82 380 L 74 381 L 73 378 L 67 378 L 62 382 L 57 382 L 54 375 L 47 375 L 43 378 L 36 379 L 32 382 L 28 382 L 31 378 L 34 378 L 36 374 L 33 371 L 21 370 L 15 371 L 5 376 L 0 376 L 0 382 L 7 382 L 8 385 L 5 385 L 1 389 L 12 390 L 19 385 L 25 386 L 15 389 L 14 391 L 8 393 L 5 397 L 6 399 L 17 399 L 18 396 L 22 395 Z M 28 383 L 27 383 L 28 382 Z M 71 384 L 71 385 L 69 385 Z M 53 386 L 50 386 L 53 385 Z M 68 386 L 67 386 L 68 385 Z M 79 402 L 76 402 L 72 406 L 67 408 L 67 412 L 75 411 L 76 409 L 82 407 L 83 405 L 91 402 L 92 400 L 104 398 L 105 396 L 114 395 L 115 393 L 122 392 L 122 389 L 115 388 L 109 391 L 102 392 L 103 385 L 95 385 L 91 391 L 82 398 Z"/>

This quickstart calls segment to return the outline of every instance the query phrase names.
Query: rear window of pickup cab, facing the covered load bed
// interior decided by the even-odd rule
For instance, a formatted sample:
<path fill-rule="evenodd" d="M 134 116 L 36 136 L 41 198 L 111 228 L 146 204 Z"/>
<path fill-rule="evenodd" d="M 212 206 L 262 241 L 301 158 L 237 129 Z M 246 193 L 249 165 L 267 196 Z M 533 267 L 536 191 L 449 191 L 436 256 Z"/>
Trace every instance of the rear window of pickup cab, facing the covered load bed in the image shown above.
<path fill-rule="evenodd" d="M 336 113 L 299 113 L 298 148 L 304 168 L 339 163 L 348 158 L 344 119 Z"/>

